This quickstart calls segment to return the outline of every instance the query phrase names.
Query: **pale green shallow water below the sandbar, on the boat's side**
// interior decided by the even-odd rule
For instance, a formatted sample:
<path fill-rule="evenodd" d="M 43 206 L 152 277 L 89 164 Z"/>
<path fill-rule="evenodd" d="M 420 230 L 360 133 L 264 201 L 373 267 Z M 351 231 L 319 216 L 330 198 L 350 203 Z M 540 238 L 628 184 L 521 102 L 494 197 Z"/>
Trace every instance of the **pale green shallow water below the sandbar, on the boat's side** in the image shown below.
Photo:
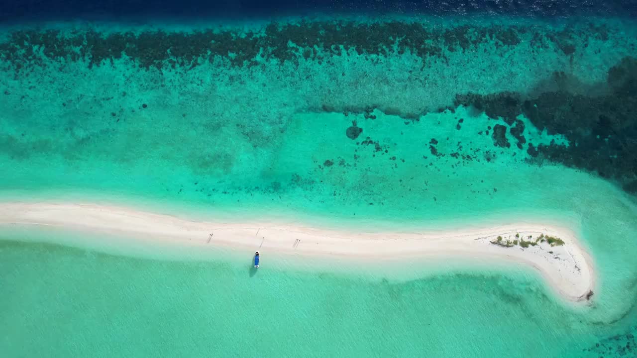
<path fill-rule="evenodd" d="M 12 356 L 592 357 L 582 350 L 627 320 L 596 326 L 524 275 L 369 282 L 38 244 L 1 252 Z"/>

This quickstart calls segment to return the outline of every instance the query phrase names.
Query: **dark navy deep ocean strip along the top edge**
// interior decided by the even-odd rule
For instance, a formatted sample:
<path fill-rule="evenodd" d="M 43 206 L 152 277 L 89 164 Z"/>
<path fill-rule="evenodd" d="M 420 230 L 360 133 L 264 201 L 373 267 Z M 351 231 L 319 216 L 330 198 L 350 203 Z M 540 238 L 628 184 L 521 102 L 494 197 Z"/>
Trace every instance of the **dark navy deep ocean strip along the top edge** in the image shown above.
<path fill-rule="evenodd" d="M 219 0 L 219 1 L 2 1 L 0 20 L 142 20 L 143 18 L 263 18 L 316 14 L 385 15 L 504 15 L 564 18 L 573 15 L 631 17 L 635 0 L 448 0 L 448 1 L 334 1 L 334 0 Z"/>

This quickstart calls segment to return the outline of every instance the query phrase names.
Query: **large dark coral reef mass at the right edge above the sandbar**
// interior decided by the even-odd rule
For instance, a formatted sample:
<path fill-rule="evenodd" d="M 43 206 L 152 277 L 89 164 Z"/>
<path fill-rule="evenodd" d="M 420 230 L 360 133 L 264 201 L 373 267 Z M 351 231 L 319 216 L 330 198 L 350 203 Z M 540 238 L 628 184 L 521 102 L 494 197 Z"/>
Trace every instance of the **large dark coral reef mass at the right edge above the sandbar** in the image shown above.
<path fill-rule="evenodd" d="M 637 59 L 624 57 L 609 69 L 607 81 L 601 86 L 606 93 L 597 96 L 568 90 L 542 92 L 529 99 L 512 92 L 465 94 L 457 96 L 455 104 L 502 118 L 520 149 L 526 138 L 522 136 L 524 123 L 516 117 L 523 114 L 540 131 L 561 134 L 568 141 L 568 145 L 528 143 L 531 157 L 585 169 L 637 192 Z M 503 125 L 494 127 L 496 147 L 508 147 L 503 131 Z"/>

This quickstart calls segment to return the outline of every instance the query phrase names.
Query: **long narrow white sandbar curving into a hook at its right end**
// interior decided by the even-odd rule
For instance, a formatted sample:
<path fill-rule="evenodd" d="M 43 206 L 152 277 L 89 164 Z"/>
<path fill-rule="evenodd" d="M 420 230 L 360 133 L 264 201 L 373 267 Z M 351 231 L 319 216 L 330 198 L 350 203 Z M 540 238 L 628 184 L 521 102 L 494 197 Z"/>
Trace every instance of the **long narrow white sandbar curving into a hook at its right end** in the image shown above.
<path fill-rule="evenodd" d="M 340 257 L 363 261 L 431 258 L 464 262 L 496 260 L 538 271 L 551 289 L 571 302 L 585 302 L 594 289 L 592 259 L 567 227 L 518 222 L 469 226 L 441 231 L 410 229 L 358 232 L 277 222 L 191 221 L 173 215 L 123 206 L 77 203 L 0 203 L 0 226 L 55 227 L 74 232 L 104 233 L 173 247 L 259 250 L 266 255 Z M 517 236 L 516 236 L 517 235 Z M 551 246 L 540 236 L 564 245 Z M 501 237 L 501 241 L 497 238 Z M 503 247 L 506 240 L 536 245 Z"/>

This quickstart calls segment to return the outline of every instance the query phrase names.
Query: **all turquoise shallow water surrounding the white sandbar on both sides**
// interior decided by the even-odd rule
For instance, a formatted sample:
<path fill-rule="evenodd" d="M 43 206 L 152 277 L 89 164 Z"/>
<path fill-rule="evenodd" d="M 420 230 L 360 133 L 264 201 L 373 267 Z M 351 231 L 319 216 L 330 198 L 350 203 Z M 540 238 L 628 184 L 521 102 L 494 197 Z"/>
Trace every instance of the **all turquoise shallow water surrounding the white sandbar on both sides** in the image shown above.
<path fill-rule="evenodd" d="M 4 228 L 0 351 L 10 357 L 634 355 L 633 197 L 596 175 L 531 157 L 509 132 L 512 145 L 494 147 L 487 131 L 501 118 L 454 103 L 455 94 L 467 92 L 533 96 L 554 71 L 570 76 L 573 92 L 603 92 L 608 69 L 634 54 L 635 28 L 620 20 L 593 23 L 606 29 L 604 36 L 589 22 L 505 22 L 531 30 L 517 30 L 518 43 L 494 36 L 425 59 L 410 51 L 350 49 L 291 60 L 255 57 L 252 66 L 232 61 L 247 52 L 241 48 L 184 64 L 197 48 L 195 32 L 180 40 L 192 41 L 187 50 L 173 48 L 162 59 L 153 51 L 162 46 L 157 33 L 144 32 L 157 27 L 55 24 L 61 32 L 27 29 L 33 32 L 26 36 L 8 29 L 9 49 L 0 48 L 6 199 L 349 230 L 567 222 L 591 252 L 598 282 L 590 304 L 573 308 L 520 268 L 463 269 L 452 262 L 457 269 L 426 275 L 419 269 L 426 262 L 415 262 L 399 268 L 408 277 L 401 278 L 389 268 L 385 276 L 368 276 L 364 267 L 336 273 L 276 262 L 256 272 L 251 252 L 143 257 L 55 244 L 68 242 L 70 233 Z M 259 26 L 229 27 L 233 41 L 251 30 L 273 36 Z M 572 54 L 531 41 L 534 32 L 568 26 Z M 82 55 L 95 41 L 89 30 L 101 38 L 131 31 L 149 44 L 122 56 L 117 41 L 98 39 L 87 50 L 92 57 Z M 91 64 L 98 54 L 104 62 Z M 567 143 L 518 118 L 534 145 Z"/>

